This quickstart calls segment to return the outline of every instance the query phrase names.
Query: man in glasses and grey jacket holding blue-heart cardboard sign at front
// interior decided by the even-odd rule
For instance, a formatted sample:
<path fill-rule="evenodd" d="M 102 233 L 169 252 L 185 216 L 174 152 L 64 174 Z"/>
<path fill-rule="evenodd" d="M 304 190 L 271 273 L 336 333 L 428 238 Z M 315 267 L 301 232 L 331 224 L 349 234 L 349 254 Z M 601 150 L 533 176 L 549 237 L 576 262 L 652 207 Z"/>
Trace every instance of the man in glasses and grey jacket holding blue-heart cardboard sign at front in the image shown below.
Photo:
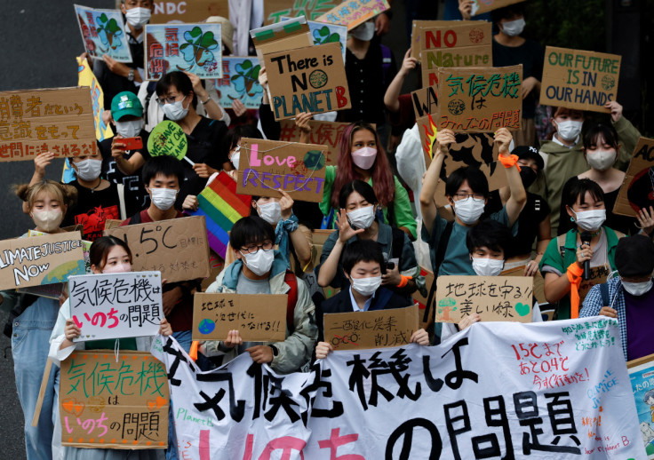
<path fill-rule="evenodd" d="M 275 230 L 259 216 L 238 220 L 229 234 L 235 262 L 227 266 L 207 292 L 235 294 L 287 294 L 292 322 L 286 324 L 283 342 L 243 343 L 238 330 L 230 330 L 226 340 L 209 340 L 199 351 L 208 357 L 221 357 L 219 365 L 240 353 L 250 353 L 252 361 L 267 363 L 275 372 L 288 374 L 305 367 L 311 359 L 318 328 L 315 305 L 307 285 L 286 271 L 286 259 L 274 249 Z M 214 361 L 215 362 L 215 361 Z"/>

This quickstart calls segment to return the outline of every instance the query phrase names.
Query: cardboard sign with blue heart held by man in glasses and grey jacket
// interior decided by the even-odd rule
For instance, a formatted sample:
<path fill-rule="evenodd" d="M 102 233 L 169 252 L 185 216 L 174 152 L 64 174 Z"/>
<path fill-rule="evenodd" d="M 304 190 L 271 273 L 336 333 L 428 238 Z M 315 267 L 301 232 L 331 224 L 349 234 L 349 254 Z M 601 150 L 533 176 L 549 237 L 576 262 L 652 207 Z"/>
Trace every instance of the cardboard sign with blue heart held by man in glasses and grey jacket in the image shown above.
<path fill-rule="evenodd" d="M 224 340 L 237 329 L 243 342 L 282 342 L 287 305 L 286 295 L 195 294 L 193 340 Z"/>

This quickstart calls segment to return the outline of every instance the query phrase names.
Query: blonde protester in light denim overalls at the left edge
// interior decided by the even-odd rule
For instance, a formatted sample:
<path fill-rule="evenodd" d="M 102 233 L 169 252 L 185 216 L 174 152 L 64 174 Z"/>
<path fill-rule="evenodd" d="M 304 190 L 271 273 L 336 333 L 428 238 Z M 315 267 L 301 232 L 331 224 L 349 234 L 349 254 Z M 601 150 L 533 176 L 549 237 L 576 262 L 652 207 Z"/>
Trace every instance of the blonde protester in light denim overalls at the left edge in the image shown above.
<path fill-rule="evenodd" d="M 20 200 L 26 203 L 36 232 L 63 232 L 60 224 L 68 207 L 75 201 L 75 187 L 64 186 L 52 180 L 41 180 L 30 186 L 16 186 L 15 191 Z M 28 234 L 22 235 L 26 236 Z M 63 284 L 61 291 L 63 295 Z M 58 299 L 19 294 L 15 289 L 0 291 L 0 309 L 11 312 L 8 321 L 12 325 L 13 374 L 20 407 L 23 410 L 25 448 L 30 460 L 50 460 L 59 455 L 60 440 L 52 437 L 58 418 L 55 396 L 58 369 L 50 371 L 44 386 L 41 415 L 38 424 L 32 426 L 48 359 L 50 334 L 57 321 L 59 307 Z"/>

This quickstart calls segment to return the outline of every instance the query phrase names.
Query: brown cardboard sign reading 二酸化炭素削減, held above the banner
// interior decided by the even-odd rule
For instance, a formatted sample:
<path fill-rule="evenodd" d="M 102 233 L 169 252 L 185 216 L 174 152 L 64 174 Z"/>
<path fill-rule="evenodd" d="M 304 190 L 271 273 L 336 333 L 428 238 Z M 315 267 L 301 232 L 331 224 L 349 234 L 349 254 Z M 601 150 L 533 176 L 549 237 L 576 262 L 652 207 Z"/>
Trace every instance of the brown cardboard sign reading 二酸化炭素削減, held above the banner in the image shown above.
<path fill-rule="evenodd" d="M 327 313 L 324 340 L 334 350 L 407 345 L 419 329 L 418 305 L 371 312 Z"/>

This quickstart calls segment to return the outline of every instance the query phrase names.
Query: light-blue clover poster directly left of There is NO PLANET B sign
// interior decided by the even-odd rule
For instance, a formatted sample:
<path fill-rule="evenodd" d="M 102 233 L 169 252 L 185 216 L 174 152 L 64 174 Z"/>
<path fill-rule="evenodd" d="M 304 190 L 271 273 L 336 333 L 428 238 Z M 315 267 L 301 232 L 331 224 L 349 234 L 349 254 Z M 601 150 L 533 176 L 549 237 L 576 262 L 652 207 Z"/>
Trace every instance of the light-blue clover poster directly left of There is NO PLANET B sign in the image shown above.
<path fill-rule="evenodd" d="M 259 109 L 263 88 L 259 84 L 261 66 L 255 58 L 222 59 L 222 77 L 215 81 L 222 107 L 232 107 L 235 99 L 246 108 Z"/>

